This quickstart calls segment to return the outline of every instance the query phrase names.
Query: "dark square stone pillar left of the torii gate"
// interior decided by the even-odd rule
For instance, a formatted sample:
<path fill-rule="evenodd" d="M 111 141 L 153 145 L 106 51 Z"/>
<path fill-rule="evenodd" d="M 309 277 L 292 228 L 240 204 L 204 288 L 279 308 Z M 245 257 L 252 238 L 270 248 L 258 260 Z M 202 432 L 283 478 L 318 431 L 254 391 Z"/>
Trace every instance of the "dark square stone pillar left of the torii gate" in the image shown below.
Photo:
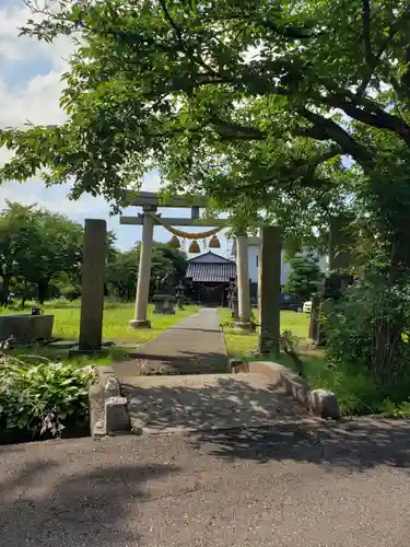
<path fill-rule="evenodd" d="M 92 353 L 102 347 L 106 233 L 105 220 L 85 219 L 80 352 Z"/>

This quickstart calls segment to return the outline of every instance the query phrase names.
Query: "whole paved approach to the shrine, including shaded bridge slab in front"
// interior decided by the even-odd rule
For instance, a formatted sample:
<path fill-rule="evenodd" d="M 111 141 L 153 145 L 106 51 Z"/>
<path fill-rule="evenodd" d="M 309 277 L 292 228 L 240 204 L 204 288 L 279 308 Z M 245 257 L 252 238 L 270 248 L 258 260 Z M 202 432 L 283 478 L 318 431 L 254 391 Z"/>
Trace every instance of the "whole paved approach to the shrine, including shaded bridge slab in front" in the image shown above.
<path fill-rule="evenodd" d="M 201 310 L 132 357 L 116 363 L 114 371 L 134 430 L 216 431 L 306 418 L 305 410 L 267 376 L 226 373 L 218 310 Z M 159 369 L 163 374 L 152 375 Z"/>

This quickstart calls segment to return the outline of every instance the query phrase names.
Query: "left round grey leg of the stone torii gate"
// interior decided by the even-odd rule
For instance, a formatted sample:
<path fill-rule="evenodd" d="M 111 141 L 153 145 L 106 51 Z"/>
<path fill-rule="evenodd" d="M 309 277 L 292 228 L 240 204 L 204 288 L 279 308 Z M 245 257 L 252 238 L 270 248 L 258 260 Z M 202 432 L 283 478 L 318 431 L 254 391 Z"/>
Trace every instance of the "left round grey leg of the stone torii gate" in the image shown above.
<path fill-rule="evenodd" d="M 136 311 L 133 319 L 130 321 L 130 327 L 132 328 L 151 327 L 151 323 L 148 321 L 148 296 L 150 292 L 151 255 L 152 255 L 152 242 L 154 238 L 154 219 L 152 218 L 151 214 L 156 211 L 156 207 L 144 206 L 143 211 L 144 216 L 142 224 L 140 264 L 138 267 Z"/>

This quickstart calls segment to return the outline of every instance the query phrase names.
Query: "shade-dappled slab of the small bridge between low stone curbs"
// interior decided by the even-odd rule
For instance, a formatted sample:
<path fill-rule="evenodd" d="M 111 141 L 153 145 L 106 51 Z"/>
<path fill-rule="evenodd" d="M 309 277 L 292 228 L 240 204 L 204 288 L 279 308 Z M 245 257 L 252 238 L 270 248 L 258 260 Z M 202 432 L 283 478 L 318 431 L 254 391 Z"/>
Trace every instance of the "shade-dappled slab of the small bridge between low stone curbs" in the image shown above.
<path fill-rule="evenodd" d="M 263 374 L 124 377 L 131 426 L 149 433 L 246 429 L 307 419 Z"/>

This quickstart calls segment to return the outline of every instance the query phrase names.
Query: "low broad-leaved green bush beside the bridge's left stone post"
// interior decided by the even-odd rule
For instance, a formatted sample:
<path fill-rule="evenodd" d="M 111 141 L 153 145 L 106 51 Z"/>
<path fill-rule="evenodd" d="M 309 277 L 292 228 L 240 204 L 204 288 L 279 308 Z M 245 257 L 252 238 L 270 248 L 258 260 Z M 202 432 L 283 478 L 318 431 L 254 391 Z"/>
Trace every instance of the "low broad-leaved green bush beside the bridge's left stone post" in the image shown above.
<path fill-rule="evenodd" d="M 2 356 L 0 360 L 0 424 L 58 435 L 65 423 L 85 426 L 89 386 L 95 373 L 46 360 L 27 363 Z"/>

